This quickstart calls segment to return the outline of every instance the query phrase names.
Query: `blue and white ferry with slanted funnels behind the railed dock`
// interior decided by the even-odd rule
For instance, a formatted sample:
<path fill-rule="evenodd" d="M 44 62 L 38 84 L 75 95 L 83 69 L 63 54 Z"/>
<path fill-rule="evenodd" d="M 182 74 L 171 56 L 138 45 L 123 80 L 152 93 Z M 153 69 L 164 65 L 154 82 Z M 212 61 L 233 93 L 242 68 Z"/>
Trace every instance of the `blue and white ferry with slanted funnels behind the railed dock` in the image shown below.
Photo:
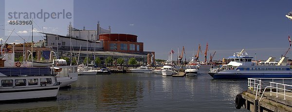
<path fill-rule="evenodd" d="M 247 79 L 247 78 L 292 78 L 292 70 L 287 65 L 288 57 L 282 57 L 279 62 L 274 62 L 270 57 L 266 62 L 253 63 L 253 57 L 245 56 L 241 52 L 229 56 L 231 62 L 219 68 L 210 68 L 209 75 L 214 79 Z"/>

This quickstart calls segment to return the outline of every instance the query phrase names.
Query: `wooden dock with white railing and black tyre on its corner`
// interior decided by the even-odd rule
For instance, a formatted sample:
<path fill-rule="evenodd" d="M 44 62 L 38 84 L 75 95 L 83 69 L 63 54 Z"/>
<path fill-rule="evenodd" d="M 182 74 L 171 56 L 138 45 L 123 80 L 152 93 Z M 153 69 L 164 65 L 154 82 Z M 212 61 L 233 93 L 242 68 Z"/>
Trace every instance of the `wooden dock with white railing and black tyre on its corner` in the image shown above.
<path fill-rule="evenodd" d="M 264 81 L 264 78 L 260 79 L 260 82 L 256 82 L 258 79 L 250 79 L 252 78 L 249 78 L 249 89 L 236 96 L 235 106 L 237 109 L 243 107 L 251 112 L 292 112 L 292 91 L 280 86 L 292 87 L 291 85 L 285 84 L 292 79 L 280 79 L 274 85 L 274 80 L 279 80 L 279 78 L 273 81 L 270 80 L 270 83 Z M 257 88 L 259 86 L 262 88 Z M 264 86 L 267 87 L 266 90 Z M 271 88 L 273 88 L 272 91 L 270 90 Z"/>

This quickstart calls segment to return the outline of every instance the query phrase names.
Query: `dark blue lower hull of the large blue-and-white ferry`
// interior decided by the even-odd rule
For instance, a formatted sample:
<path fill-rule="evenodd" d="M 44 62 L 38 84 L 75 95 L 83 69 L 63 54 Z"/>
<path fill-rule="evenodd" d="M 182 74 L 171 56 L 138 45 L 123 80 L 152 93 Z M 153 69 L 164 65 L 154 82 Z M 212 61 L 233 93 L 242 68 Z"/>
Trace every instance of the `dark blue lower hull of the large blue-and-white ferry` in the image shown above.
<path fill-rule="evenodd" d="M 209 73 L 214 79 L 247 79 L 247 78 L 292 78 L 291 73 L 264 73 L 264 74 L 220 74 Z"/>

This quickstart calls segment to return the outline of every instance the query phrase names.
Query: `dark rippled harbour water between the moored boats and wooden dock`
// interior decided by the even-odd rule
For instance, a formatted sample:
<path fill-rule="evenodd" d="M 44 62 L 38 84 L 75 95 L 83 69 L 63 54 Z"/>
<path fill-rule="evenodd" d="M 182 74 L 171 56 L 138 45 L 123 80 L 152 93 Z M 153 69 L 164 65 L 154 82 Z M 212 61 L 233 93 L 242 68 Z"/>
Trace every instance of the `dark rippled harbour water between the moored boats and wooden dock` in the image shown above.
<path fill-rule="evenodd" d="M 217 80 L 202 66 L 197 77 L 157 74 L 79 76 L 56 100 L 0 104 L 5 112 L 247 112 L 234 99 L 247 80 Z"/>

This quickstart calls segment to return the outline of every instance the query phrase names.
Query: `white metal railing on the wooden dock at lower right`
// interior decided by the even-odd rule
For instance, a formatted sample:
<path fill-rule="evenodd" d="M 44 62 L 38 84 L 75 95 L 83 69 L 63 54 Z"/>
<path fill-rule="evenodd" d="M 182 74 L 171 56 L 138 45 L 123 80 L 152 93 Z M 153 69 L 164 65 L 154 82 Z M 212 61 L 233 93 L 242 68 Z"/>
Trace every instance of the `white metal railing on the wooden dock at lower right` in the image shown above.
<path fill-rule="evenodd" d="M 259 101 L 267 88 L 270 88 L 270 96 L 274 93 L 276 97 L 278 97 L 278 95 L 284 96 L 283 99 L 286 99 L 286 96 L 292 97 L 286 94 L 287 92 L 292 92 L 292 85 L 287 83 L 292 83 L 292 78 L 248 78 L 248 88 L 256 91 L 256 98 L 257 93 L 260 94 L 262 92 Z M 265 89 L 262 91 L 262 88 Z M 275 90 L 275 92 L 273 90 Z"/>

